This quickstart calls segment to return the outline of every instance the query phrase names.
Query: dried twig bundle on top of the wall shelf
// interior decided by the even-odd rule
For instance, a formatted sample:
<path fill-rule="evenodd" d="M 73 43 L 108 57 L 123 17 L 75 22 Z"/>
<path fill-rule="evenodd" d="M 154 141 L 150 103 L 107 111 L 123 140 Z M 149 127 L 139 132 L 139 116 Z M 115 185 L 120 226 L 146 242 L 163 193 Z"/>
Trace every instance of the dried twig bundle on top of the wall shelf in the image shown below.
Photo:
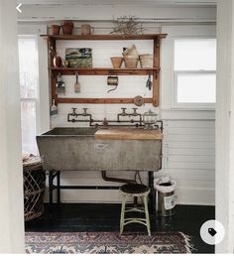
<path fill-rule="evenodd" d="M 110 34 L 137 35 L 143 34 L 146 29 L 143 28 L 139 18 L 135 16 L 121 16 L 113 20 L 115 28 Z"/>

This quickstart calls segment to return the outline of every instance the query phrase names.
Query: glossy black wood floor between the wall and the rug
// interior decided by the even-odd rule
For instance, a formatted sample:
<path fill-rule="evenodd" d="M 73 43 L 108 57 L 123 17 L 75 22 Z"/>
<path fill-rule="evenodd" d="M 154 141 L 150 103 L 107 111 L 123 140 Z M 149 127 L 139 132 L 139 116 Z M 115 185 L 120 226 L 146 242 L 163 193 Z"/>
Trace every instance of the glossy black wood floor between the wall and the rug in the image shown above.
<path fill-rule="evenodd" d="M 193 253 L 214 253 L 214 246 L 205 244 L 199 229 L 203 222 L 214 219 L 213 206 L 176 205 L 172 217 L 151 219 L 152 231 L 181 231 L 191 236 Z M 49 205 L 45 214 L 26 222 L 26 231 L 116 231 L 119 230 L 120 204 L 61 203 L 53 207 L 53 219 L 49 218 Z M 125 230 L 144 230 L 138 224 Z"/>

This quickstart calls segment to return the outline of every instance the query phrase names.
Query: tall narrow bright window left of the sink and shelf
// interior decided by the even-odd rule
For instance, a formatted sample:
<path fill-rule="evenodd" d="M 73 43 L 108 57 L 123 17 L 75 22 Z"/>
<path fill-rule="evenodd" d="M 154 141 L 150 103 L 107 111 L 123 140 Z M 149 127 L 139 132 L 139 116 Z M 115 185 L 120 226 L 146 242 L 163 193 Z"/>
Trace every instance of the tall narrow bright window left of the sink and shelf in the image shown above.
<path fill-rule="evenodd" d="M 22 36 L 18 43 L 22 150 L 25 153 L 38 154 L 36 143 L 39 83 L 37 38 Z"/>

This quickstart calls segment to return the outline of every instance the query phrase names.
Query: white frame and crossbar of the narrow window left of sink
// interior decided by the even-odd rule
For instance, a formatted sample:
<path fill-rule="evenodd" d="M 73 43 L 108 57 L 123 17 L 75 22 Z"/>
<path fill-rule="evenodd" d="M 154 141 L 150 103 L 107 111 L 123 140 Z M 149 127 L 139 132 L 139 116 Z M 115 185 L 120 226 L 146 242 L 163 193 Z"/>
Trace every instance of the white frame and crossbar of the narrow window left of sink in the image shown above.
<path fill-rule="evenodd" d="M 37 48 L 37 72 L 38 72 L 38 77 L 37 77 L 37 87 L 36 87 L 36 96 L 35 97 L 22 97 L 20 96 L 20 102 L 34 102 L 35 103 L 35 109 L 36 109 L 36 135 L 39 133 L 40 131 L 40 79 L 39 79 L 39 42 L 38 42 L 38 37 L 37 35 L 18 35 L 18 42 L 20 39 L 34 39 L 35 43 L 36 43 L 36 48 Z M 20 64 L 20 63 L 19 63 Z M 20 69 L 19 69 L 20 70 Z M 20 73 L 19 73 L 20 75 Z M 21 84 L 19 83 L 19 85 L 21 86 Z M 36 141 L 36 138 L 35 138 Z M 23 149 L 22 149 L 23 150 Z"/>

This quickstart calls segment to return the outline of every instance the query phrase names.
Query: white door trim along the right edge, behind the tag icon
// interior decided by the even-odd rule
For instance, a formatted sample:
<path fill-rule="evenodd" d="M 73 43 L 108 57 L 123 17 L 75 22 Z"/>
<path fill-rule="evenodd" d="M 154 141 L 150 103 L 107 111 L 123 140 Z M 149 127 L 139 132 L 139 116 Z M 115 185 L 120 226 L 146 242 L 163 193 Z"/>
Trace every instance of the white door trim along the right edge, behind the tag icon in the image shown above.
<path fill-rule="evenodd" d="M 234 2 L 217 6 L 217 109 L 216 109 L 216 219 L 226 236 L 216 253 L 234 248 Z"/>

